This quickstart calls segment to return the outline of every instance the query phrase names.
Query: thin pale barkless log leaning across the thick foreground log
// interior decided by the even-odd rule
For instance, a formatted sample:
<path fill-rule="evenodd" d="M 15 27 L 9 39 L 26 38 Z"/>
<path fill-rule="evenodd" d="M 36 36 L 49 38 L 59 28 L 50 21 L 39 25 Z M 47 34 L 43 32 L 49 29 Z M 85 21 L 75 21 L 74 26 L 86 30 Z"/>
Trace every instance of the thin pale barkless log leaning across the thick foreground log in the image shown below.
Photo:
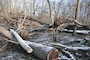
<path fill-rule="evenodd" d="M 23 39 L 16 33 L 16 31 L 10 29 L 10 32 L 15 36 L 19 44 L 27 51 L 27 53 L 32 53 L 33 49 L 23 41 Z"/>

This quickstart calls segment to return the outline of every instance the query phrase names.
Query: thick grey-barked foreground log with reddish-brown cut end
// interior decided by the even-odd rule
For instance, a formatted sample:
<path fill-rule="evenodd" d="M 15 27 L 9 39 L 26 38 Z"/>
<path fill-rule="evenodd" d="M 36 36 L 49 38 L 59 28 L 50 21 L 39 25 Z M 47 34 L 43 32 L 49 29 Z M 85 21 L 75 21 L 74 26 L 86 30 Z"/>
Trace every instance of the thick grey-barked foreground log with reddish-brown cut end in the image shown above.
<path fill-rule="evenodd" d="M 59 51 L 54 47 L 49 47 L 29 41 L 25 41 L 26 44 L 33 48 L 32 54 L 42 60 L 58 60 Z"/>

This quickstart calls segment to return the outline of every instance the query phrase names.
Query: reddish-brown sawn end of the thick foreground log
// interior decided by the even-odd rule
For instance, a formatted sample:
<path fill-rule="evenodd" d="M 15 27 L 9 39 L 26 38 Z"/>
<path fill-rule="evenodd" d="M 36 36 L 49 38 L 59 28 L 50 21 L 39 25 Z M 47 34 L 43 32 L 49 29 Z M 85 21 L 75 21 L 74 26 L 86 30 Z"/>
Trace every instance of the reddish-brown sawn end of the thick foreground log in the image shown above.
<path fill-rule="evenodd" d="M 49 52 L 47 60 L 58 60 L 58 54 L 59 51 L 57 49 L 53 49 L 52 51 Z"/>

